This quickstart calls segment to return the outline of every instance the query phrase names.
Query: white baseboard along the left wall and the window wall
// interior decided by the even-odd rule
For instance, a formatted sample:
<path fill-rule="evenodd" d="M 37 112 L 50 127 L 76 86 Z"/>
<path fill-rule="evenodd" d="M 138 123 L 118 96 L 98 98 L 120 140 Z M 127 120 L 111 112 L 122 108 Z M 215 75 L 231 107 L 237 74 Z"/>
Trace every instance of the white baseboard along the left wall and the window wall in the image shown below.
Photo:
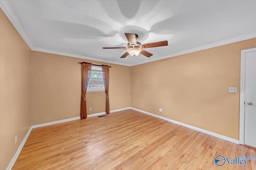
<path fill-rule="evenodd" d="M 110 113 L 114 113 L 114 112 L 122 111 L 122 110 L 126 110 L 126 109 L 131 109 L 131 107 L 125 107 L 125 108 L 121 108 L 121 109 L 111 110 Z M 94 114 L 91 114 L 91 115 L 87 115 L 87 117 L 93 117 L 93 116 L 98 116 L 98 115 L 102 115 L 102 114 L 106 114 L 106 113 L 105 113 L 105 112 L 94 113 Z M 30 132 L 32 131 L 32 129 L 37 128 L 37 127 L 43 127 L 43 126 L 48 126 L 48 125 L 54 125 L 54 124 L 57 124 L 57 123 L 63 123 L 63 122 L 66 122 L 66 121 L 77 120 L 77 119 L 80 119 L 80 116 L 79 116 L 79 117 L 69 118 L 69 119 L 58 120 L 58 121 L 52 121 L 52 122 L 48 122 L 48 123 L 42 123 L 42 124 L 38 124 L 38 125 L 32 125 L 32 126 L 30 127 L 30 129 L 28 130 L 26 136 L 24 137 L 22 143 L 20 144 L 20 147 L 18 147 L 18 150 L 17 150 L 16 153 L 14 154 L 14 156 L 13 156 L 11 162 L 10 162 L 9 165 L 7 166 L 6 170 L 11 170 L 11 169 L 12 169 L 12 166 L 14 165 L 16 159 L 18 158 L 18 156 L 19 156 L 19 154 L 20 154 L 20 151 L 22 150 L 24 144 L 26 143 L 26 141 L 27 141 L 27 139 L 28 139 L 28 136 L 29 136 Z"/>

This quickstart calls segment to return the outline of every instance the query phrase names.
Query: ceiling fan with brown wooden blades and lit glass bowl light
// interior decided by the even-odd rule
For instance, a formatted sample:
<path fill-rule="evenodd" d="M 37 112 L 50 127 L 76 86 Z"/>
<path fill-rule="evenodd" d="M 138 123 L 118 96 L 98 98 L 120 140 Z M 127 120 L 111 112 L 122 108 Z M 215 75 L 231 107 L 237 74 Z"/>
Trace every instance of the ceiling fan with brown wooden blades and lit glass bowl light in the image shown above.
<path fill-rule="evenodd" d="M 168 45 L 168 41 L 159 41 L 155 43 L 148 43 L 148 44 L 141 45 L 140 42 L 136 41 L 136 39 L 139 37 L 138 34 L 134 34 L 134 33 L 124 33 L 124 34 L 129 42 L 127 47 L 102 47 L 102 49 L 127 49 L 126 53 L 124 53 L 124 55 L 122 55 L 122 57 L 120 58 L 125 58 L 128 56 L 128 54 L 134 57 L 139 54 L 142 54 L 146 57 L 151 57 L 153 54 L 148 53 L 144 49 Z"/>

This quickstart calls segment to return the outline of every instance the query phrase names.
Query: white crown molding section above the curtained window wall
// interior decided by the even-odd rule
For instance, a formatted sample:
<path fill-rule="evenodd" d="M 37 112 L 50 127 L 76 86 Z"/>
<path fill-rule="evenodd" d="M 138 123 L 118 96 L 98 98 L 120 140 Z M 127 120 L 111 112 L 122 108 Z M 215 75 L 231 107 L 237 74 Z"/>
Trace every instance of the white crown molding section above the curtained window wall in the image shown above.
<path fill-rule="evenodd" d="M 44 53 L 56 54 L 56 55 L 64 55 L 64 56 L 68 56 L 68 57 L 75 57 L 75 58 L 79 58 L 79 59 L 86 59 L 86 60 L 92 60 L 92 61 L 100 61 L 100 62 L 104 62 L 104 63 L 131 66 L 130 64 L 119 63 L 119 62 L 115 62 L 115 61 L 111 61 L 111 60 L 98 59 L 98 58 L 94 58 L 94 57 L 87 57 L 87 56 L 83 56 L 83 55 L 77 55 L 77 54 L 65 53 L 65 52 L 61 52 L 61 51 L 42 49 L 42 48 L 37 48 L 37 47 L 34 47 L 32 49 L 32 51 L 39 51 L 39 52 L 44 52 Z"/>

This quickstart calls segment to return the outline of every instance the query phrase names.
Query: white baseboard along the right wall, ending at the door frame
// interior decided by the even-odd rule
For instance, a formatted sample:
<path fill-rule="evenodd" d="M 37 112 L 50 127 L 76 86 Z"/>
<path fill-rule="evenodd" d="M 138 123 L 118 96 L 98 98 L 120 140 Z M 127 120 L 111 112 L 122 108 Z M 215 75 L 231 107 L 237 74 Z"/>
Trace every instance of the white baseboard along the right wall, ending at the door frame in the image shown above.
<path fill-rule="evenodd" d="M 176 123 L 176 124 L 178 124 L 178 125 L 182 125 L 182 126 L 188 127 L 188 128 L 190 128 L 190 129 L 194 129 L 194 130 L 196 130 L 196 131 L 200 131 L 200 132 L 202 132 L 202 133 L 206 133 L 206 134 L 208 134 L 208 135 L 212 135 L 212 136 L 214 136 L 214 137 L 218 137 L 218 138 L 220 138 L 220 139 L 224 139 L 224 140 L 226 140 L 226 141 L 230 141 L 230 142 L 239 144 L 239 141 L 238 141 L 238 140 L 233 139 L 233 138 L 230 138 L 230 137 L 226 137 L 226 136 L 223 136 L 223 135 L 220 135 L 220 134 L 218 134 L 218 133 L 214 133 L 214 132 L 211 132 L 211 131 L 207 131 L 207 130 L 204 130 L 204 129 L 201 129 L 201 128 L 198 128 L 198 127 L 194 127 L 194 126 L 191 126 L 191 125 L 188 125 L 188 124 L 185 124 L 185 123 L 181 123 L 181 122 L 179 122 L 179 121 L 175 121 L 175 120 L 172 120 L 172 119 L 168 119 L 168 118 L 166 118 L 166 117 L 162 117 L 162 116 L 159 116 L 159 115 L 155 115 L 155 114 L 153 114 L 153 113 L 149 113 L 149 112 L 147 112 L 147 111 L 143 111 L 143 110 L 140 110 L 140 109 L 136 109 L 136 108 L 134 108 L 134 107 L 131 107 L 131 109 L 134 109 L 134 110 L 136 110 L 136 111 L 140 111 L 140 112 L 142 112 L 142 113 L 146 113 L 146 114 L 151 115 L 151 116 L 154 116 L 154 117 L 158 117 L 158 118 L 160 118 L 160 119 L 164 119 L 164 120 L 166 120 L 166 121 L 170 121 L 170 122 L 172 122 L 172 123 Z"/>

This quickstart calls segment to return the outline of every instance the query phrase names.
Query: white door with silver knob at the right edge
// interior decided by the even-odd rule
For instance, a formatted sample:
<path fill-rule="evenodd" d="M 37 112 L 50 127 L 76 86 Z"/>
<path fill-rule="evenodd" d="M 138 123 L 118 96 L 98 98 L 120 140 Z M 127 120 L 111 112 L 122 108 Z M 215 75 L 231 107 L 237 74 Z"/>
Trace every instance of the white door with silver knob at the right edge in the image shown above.
<path fill-rule="evenodd" d="M 256 49 L 245 55 L 244 144 L 256 148 Z"/>

